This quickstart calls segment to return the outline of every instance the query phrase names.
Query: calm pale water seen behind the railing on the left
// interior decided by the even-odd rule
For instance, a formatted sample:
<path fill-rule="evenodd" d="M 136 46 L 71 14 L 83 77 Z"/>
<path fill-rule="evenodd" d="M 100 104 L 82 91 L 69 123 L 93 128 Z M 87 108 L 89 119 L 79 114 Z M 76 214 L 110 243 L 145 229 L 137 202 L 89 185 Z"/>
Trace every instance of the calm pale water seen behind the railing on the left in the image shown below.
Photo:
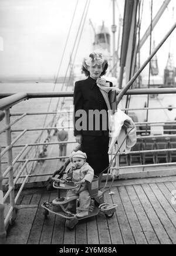
<path fill-rule="evenodd" d="M 21 93 L 21 92 L 52 92 L 54 89 L 53 83 L 1 83 L 0 84 L 0 93 Z M 60 91 L 62 89 L 62 84 L 56 84 L 55 91 Z M 63 87 L 63 90 L 66 90 L 66 87 Z M 68 88 L 72 90 L 72 88 Z M 43 111 L 55 111 L 58 98 L 42 98 L 42 99 L 29 99 L 24 100 L 10 109 L 11 114 L 16 113 L 36 113 Z M 65 105 L 67 104 L 67 99 L 65 100 Z M 49 107 L 50 105 L 50 107 Z M 18 116 L 12 116 L 11 122 L 16 119 Z M 53 114 L 49 114 L 46 118 L 45 114 L 42 115 L 32 115 L 25 116 L 18 123 L 15 123 L 12 126 L 12 130 L 16 129 L 33 129 L 36 127 L 43 127 L 43 124 L 48 124 L 52 120 Z M 45 120 L 46 118 L 46 120 Z M 0 123 L 0 130 L 5 126 L 5 119 Z M 12 141 L 18 136 L 21 132 L 12 132 Z M 35 142 L 36 138 L 39 136 L 40 131 L 28 131 L 22 136 L 15 145 L 26 144 Z M 1 147 L 6 146 L 6 136 L 5 133 L 0 134 L 0 145 Z M 13 149 L 13 159 L 21 151 L 22 147 L 16 147 Z M 2 148 L 3 150 L 3 148 Z M 6 161 L 6 154 L 2 156 L 2 162 Z M 2 165 L 2 169 L 6 165 Z M 3 168 L 4 167 L 4 168 Z"/>

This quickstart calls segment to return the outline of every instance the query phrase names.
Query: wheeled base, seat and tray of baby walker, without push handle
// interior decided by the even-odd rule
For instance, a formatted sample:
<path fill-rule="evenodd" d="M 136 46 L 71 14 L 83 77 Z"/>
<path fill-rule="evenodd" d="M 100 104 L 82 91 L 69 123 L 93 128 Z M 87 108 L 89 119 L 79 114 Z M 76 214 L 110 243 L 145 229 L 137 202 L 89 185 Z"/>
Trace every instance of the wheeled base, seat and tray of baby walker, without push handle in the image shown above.
<path fill-rule="evenodd" d="M 111 218 L 114 212 L 116 212 L 116 204 L 107 204 L 104 202 L 104 193 L 106 191 L 99 191 L 99 178 L 94 175 L 94 179 L 92 183 L 88 185 L 90 197 L 91 197 L 91 204 L 89 207 L 89 214 L 84 216 L 83 218 L 77 218 L 76 213 L 73 214 L 66 210 L 66 206 L 70 201 L 76 201 L 76 204 L 79 204 L 78 199 L 79 195 L 70 196 L 67 198 L 60 197 L 60 190 L 67 190 L 67 189 L 74 189 L 77 188 L 79 182 L 71 182 L 69 178 L 67 179 L 58 179 L 52 178 L 53 180 L 53 188 L 58 190 L 58 197 L 55 198 L 52 202 L 43 202 L 43 215 L 45 218 L 48 218 L 49 212 L 52 214 L 56 214 L 62 216 L 66 219 L 66 227 L 69 229 L 73 229 L 77 222 L 82 219 L 90 218 L 92 216 L 96 216 L 99 212 L 104 212 L 104 214 Z"/>

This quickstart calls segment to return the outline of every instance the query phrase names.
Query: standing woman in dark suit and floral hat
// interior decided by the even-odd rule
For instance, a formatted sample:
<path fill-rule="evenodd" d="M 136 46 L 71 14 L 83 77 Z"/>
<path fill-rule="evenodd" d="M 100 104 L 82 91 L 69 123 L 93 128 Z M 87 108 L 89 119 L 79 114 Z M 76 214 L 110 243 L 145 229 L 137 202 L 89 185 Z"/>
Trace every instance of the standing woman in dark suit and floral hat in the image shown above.
<path fill-rule="evenodd" d="M 97 81 L 106 73 L 108 64 L 102 54 L 93 52 L 84 59 L 82 70 L 86 80 L 76 81 L 74 90 L 74 135 L 95 175 L 109 166 L 109 100 Z M 113 84 L 106 81 L 106 86 Z M 108 101 L 108 102 L 107 102 Z"/>

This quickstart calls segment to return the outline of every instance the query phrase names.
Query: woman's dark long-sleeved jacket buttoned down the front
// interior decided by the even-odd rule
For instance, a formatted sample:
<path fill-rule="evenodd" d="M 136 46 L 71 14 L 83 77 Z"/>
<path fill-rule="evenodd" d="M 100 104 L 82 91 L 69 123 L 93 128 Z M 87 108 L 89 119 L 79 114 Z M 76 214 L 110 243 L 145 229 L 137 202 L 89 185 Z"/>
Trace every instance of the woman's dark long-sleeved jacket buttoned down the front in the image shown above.
<path fill-rule="evenodd" d="M 109 83 L 110 86 L 113 86 L 111 82 Z M 96 116 L 96 120 L 93 122 L 93 116 L 91 115 L 92 113 L 90 111 L 103 110 L 106 111 L 107 114 L 107 105 L 99 87 L 96 84 L 96 80 L 88 77 L 86 80 L 76 81 L 73 97 L 73 104 L 75 107 L 73 114 L 74 135 L 76 136 L 82 134 L 88 136 L 109 136 L 109 129 L 107 125 L 108 115 L 105 120 L 104 116 L 100 114 L 98 118 Z M 79 113 L 77 113 L 77 110 L 80 110 Z M 101 111 L 101 113 L 103 111 Z M 86 121 L 84 120 L 85 113 Z M 84 124 L 83 122 L 80 122 L 82 119 L 84 120 Z M 79 123 L 80 127 L 83 127 L 83 129 L 77 129 L 77 125 L 75 124 Z M 97 126 L 97 124 L 100 124 L 100 126 Z M 100 127 L 100 129 L 98 127 Z"/>

